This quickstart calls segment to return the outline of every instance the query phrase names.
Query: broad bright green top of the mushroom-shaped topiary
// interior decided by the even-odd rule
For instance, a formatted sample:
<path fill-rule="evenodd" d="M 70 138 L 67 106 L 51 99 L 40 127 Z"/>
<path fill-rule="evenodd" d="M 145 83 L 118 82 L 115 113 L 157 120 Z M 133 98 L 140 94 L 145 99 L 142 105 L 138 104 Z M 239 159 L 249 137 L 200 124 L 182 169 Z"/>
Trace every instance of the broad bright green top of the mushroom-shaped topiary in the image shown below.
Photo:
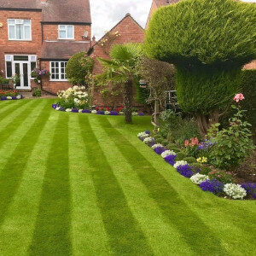
<path fill-rule="evenodd" d="M 255 58 L 256 6 L 233 0 L 187 0 L 156 11 L 146 36 L 150 57 L 174 64 L 226 63 Z"/>

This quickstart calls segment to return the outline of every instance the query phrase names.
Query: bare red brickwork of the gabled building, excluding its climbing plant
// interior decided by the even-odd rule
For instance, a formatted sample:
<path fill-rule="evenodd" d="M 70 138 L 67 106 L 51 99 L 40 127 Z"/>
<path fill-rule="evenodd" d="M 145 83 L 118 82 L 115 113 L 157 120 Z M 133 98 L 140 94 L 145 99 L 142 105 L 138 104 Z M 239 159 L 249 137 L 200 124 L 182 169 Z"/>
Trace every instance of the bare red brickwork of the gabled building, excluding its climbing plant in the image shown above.
<path fill-rule="evenodd" d="M 113 28 L 111 33 L 119 32 L 120 36 L 113 41 L 113 44 L 127 44 L 127 43 L 143 43 L 144 40 L 144 31 L 141 26 L 137 24 L 135 20 L 131 18 L 130 15 L 126 16 L 124 20 Z M 108 52 L 108 50 L 107 50 Z M 108 59 L 109 55 L 104 52 L 104 49 L 100 44 L 96 44 L 94 47 L 93 54 L 97 57 Z M 102 65 L 99 61 L 95 61 L 94 65 L 94 74 L 102 73 Z M 106 106 L 109 103 L 106 100 L 102 99 L 102 96 L 98 88 L 93 90 L 93 103 L 96 106 Z M 119 96 L 116 100 L 116 105 L 120 106 L 123 104 L 123 96 Z M 135 105 L 138 105 L 137 102 L 134 102 Z"/>

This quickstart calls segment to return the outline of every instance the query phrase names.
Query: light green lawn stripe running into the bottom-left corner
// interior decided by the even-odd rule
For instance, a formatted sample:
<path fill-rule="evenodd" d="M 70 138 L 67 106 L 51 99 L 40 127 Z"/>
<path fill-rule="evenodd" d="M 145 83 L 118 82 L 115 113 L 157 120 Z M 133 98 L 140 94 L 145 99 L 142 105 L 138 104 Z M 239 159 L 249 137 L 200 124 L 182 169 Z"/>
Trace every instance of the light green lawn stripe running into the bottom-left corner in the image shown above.
<path fill-rule="evenodd" d="M 44 125 L 38 143 L 36 143 L 27 161 L 26 169 L 20 181 L 20 189 L 18 189 L 6 213 L 0 230 L 0 252 L 2 255 L 9 255 L 9 252 L 12 252 L 12 255 L 26 255 L 32 241 L 47 156 L 52 143 L 52 131 L 55 130 L 56 120 L 57 115 L 52 114 Z M 16 168 L 19 169 L 19 166 Z"/>

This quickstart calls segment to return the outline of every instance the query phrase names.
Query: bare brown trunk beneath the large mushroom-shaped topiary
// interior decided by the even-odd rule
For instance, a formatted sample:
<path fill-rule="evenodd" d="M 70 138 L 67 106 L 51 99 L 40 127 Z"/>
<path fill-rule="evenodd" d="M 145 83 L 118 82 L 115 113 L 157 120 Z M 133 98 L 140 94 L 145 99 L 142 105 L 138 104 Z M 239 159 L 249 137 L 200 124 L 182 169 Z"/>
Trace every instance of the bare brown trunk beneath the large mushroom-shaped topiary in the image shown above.
<path fill-rule="evenodd" d="M 218 123 L 218 109 L 214 110 L 210 115 L 196 114 L 195 118 L 197 119 L 197 124 L 200 130 L 201 137 L 207 135 L 207 131 L 211 128 L 212 125 Z"/>

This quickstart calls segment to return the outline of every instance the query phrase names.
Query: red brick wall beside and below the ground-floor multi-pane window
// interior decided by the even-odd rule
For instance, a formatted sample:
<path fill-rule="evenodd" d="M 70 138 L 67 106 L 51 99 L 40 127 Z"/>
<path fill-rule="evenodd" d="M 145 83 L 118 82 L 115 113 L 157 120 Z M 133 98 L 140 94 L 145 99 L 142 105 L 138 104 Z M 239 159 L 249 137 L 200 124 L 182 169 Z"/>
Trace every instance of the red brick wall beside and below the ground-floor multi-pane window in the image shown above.
<path fill-rule="evenodd" d="M 41 61 L 41 67 L 50 70 L 49 61 Z M 67 81 L 49 81 L 49 79 L 49 77 L 44 77 L 42 79 L 42 89 L 54 94 L 56 94 L 59 90 L 67 90 L 72 86 Z"/>

